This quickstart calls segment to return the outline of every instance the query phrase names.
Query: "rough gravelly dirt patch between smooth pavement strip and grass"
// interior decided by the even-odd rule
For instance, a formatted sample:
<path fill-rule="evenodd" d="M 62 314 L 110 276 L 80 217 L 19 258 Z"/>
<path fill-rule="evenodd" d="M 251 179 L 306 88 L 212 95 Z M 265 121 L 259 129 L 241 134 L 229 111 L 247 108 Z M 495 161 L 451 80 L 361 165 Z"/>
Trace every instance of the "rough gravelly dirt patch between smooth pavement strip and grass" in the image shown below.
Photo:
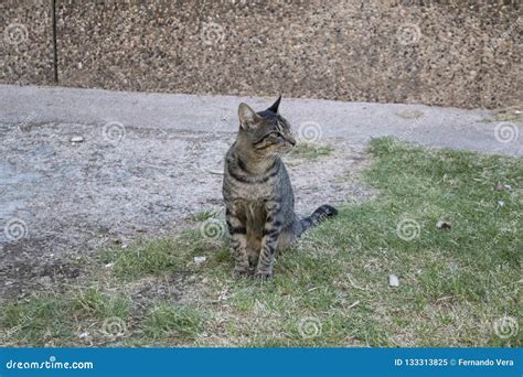
<path fill-rule="evenodd" d="M 188 215 L 222 212 L 223 157 L 234 133 L 113 131 L 78 123 L 0 125 L 0 219 L 14 219 L 0 233 L 0 300 L 82 279 L 89 251 L 174 236 L 190 226 Z M 72 142 L 78 137 L 83 141 Z M 285 159 L 300 214 L 371 195 L 357 181 L 369 161 L 364 147 L 342 138 L 321 143 L 334 150 Z"/>

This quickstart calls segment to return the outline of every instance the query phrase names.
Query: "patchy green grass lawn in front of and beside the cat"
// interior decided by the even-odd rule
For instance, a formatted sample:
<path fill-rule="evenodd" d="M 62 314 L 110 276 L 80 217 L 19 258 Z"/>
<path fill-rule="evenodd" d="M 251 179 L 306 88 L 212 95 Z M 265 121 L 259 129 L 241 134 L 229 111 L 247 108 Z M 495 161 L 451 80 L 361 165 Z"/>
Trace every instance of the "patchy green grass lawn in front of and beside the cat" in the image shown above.
<path fill-rule="evenodd" d="M 277 259 L 270 282 L 233 280 L 226 237 L 203 237 L 217 217 L 198 215 L 175 239 L 100 251 L 99 271 L 71 294 L 9 303 L 0 330 L 22 323 L 11 344 L 25 345 L 45 344 L 51 328 L 53 345 L 89 332 L 95 345 L 119 346 L 521 346 L 521 332 L 500 337 L 493 323 L 521 312 L 523 159 L 389 138 L 369 151 L 364 180 L 380 195 L 308 233 Z M 207 259 L 196 266 L 195 256 Z M 132 295 L 183 276 L 180 300 Z M 125 331 L 108 337 L 100 328 L 114 317 Z"/>

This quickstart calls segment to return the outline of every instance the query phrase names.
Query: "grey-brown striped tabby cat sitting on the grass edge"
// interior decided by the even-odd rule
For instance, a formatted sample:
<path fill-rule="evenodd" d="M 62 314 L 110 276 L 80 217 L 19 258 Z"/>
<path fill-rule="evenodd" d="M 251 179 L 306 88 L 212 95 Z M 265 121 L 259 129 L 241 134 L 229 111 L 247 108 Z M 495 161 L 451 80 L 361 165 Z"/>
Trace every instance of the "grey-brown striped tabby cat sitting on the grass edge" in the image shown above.
<path fill-rule="evenodd" d="M 267 110 L 239 104 L 239 130 L 225 157 L 223 197 L 238 278 L 273 277 L 275 251 L 290 246 L 303 231 L 338 212 L 322 205 L 306 218 L 295 214 L 295 196 L 281 155 L 296 140 L 279 115 L 281 96 Z"/>

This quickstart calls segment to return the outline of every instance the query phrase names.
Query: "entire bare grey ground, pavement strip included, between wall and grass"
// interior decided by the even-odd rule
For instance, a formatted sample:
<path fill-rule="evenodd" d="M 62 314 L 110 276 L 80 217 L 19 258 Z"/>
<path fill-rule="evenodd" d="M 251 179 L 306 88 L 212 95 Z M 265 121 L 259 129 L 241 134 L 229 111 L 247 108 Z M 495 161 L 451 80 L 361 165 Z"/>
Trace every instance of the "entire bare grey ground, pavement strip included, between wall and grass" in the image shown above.
<path fill-rule="evenodd" d="M 236 109 L 275 98 L 0 85 L 0 301 L 82 279 L 93 250 L 174 236 L 222 211 Z M 296 209 L 372 195 L 365 144 L 395 136 L 436 148 L 522 155 L 522 112 L 285 98 L 298 138 L 328 155 L 287 157 Z M 79 138 L 79 139 L 78 139 Z M 76 141 L 75 141 L 76 140 Z"/>

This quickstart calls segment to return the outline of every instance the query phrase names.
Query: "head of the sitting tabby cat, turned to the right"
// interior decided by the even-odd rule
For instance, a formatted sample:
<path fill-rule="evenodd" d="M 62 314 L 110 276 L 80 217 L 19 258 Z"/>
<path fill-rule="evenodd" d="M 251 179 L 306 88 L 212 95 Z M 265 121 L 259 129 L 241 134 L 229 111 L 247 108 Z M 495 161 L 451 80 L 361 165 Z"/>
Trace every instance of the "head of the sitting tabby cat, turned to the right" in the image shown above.
<path fill-rule="evenodd" d="M 247 104 L 239 104 L 239 132 L 259 155 L 287 153 L 296 146 L 290 123 L 278 112 L 280 100 L 281 96 L 267 110 L 259 112 Z"/>

